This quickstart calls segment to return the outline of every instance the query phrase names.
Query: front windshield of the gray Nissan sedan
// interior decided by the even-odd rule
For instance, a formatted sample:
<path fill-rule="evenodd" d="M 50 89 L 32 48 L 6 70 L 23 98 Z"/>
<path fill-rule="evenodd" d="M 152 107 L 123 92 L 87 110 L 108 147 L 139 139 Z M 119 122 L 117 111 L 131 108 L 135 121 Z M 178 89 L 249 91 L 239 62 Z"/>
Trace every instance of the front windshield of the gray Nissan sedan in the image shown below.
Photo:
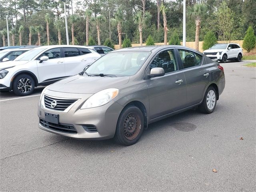
<path fill-rule="evenodd" d="M 150 53 L 149 51 L 109 52 L 89 66 L 83 75 L 132 76 L 138 72 Z"/>

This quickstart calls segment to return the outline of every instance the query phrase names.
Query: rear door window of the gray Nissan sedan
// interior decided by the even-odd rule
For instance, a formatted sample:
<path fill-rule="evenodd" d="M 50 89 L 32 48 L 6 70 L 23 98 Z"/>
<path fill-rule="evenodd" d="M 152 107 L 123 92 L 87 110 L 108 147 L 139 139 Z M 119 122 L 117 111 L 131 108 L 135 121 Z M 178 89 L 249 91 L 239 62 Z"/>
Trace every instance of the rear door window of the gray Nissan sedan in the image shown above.
<path fill-rule="evenodd" d="M 181 49 L 178 49 L 178 52 L 180 53 L 180 58 L 182 60 L 184 69 L 200 65 L 202 60 L 201 55 L 192 51 Z"/>

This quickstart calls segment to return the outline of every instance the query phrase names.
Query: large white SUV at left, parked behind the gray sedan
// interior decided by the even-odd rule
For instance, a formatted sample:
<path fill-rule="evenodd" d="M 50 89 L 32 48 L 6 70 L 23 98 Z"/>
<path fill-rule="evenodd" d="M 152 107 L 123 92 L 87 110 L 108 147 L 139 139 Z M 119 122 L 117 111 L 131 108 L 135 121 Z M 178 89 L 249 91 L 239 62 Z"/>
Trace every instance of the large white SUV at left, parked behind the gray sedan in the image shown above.
<path fill-rule="evenodd" d="M 0 65 L 0 92 L 13 90 L 25 96 L 36 86 L 45 86 L 78 74 L 100 58 L 89 46 L 41 46 Z"/>

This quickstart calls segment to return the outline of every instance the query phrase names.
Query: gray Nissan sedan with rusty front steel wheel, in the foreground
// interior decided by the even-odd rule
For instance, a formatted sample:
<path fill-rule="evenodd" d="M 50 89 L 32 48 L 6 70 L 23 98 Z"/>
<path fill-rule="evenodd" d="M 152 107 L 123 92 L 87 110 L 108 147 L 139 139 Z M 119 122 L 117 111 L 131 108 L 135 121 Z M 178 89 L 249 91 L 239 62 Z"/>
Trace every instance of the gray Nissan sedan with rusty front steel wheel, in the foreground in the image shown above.
<path fill-rule="evenodd" d="M 184 46 L 115 50 L 44 88 L 39 128 L 131 145 L 152 122 L 195 106 L 212 113 L 224 86 L 222 66 Z"/>

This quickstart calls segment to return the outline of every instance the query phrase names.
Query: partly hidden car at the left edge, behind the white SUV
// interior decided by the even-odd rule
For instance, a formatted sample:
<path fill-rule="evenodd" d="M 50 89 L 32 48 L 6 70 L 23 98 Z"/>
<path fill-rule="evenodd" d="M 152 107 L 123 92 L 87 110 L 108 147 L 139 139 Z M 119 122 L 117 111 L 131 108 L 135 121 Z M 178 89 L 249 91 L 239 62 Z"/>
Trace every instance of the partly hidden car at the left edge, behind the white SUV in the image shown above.
<path fill-rule="evenodd" d="M 24 52 L 31 50 L 32 48 L 22 48 L 22 49 L 5 49 L 0 51 L 0 62 L 12 61 L 16 57 L 20 56 Z"/>

